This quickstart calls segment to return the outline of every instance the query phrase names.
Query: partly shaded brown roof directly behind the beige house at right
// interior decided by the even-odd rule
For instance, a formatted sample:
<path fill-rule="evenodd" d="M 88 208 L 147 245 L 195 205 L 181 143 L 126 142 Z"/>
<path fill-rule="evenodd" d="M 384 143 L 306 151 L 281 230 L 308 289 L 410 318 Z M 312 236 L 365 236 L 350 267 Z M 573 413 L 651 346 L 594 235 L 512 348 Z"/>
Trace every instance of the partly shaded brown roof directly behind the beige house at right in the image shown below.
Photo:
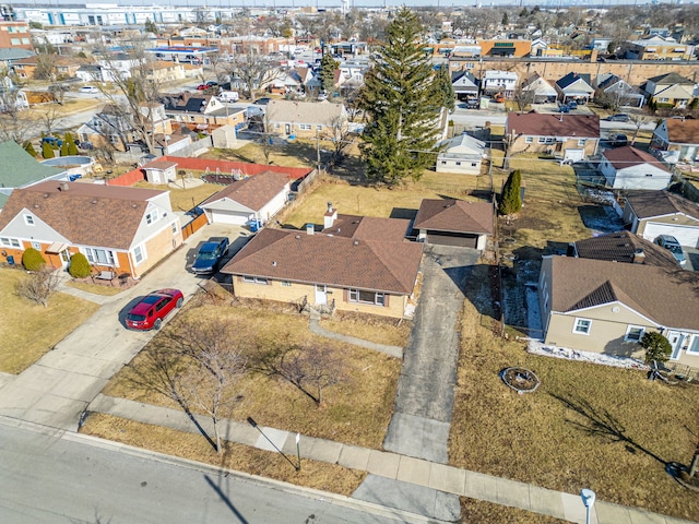
<path fill-rule="evenodd" d="M 633 262 L 635 253 L 639 250 L 643 252 L 642 260 L 645 265 L 656 265 L 668 270 L 678 267 L 677 261 L 667 249 L 655 246 L 630 231 L 609 233 L 576 242 L 576 251 L 581 259 L 630 264 Z"/>

